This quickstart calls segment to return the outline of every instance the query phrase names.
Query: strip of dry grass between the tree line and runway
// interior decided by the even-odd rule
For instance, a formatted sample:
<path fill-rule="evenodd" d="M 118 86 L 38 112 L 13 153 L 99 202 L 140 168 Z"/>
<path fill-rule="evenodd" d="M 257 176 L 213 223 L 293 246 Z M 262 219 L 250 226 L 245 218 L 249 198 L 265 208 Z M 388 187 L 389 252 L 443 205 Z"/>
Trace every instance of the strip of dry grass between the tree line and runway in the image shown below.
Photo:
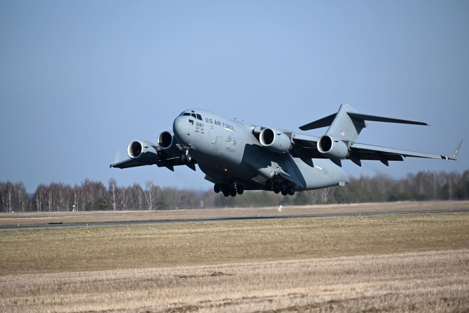
<path fill-rule="evenodd" d="M 320 204 L 283 206 L 165 210 L 165 211 L 90 211 L 90 212 L 16 212 L 0 213 L 0 225 L 48 223 L 92 223 L 121 221 L 154 221 L 205 219 L 217 217 L 252 217 L 278 215 L 311 215 L 328 213 L 365 213 L 389 211 L 427 211 L 469 209 L 469 201 L 401 201 L 384 203 Z"/>

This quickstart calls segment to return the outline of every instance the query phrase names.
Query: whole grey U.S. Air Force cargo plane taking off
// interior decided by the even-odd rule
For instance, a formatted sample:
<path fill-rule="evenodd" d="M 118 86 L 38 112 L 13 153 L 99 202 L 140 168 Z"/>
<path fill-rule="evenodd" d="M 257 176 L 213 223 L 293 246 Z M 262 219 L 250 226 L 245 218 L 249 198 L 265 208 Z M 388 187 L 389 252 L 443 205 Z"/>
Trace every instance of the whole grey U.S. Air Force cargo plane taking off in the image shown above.
<path fill-rule="evenodd" d="M 407 156 L 455 160 L 462 143 L 451 156 L 442 156 L 355 142 L 367 121 L 427 125 L 362 114 L 342 104 L 337 113 L 299 127 L 309 131 L 329 126 L 317 137 L 190 109 L 174 119 L 172 131 L 158 135 L 156 144 L 132 141 L 127 149 L 129 158 L 117 162 L 116 156 L 110 167 L 156 165 L 174 171 L 174 166 L 186 165 L 195 171 L 197 164 L 205 179 L 213 182 L 213 190 L 225 197 L 241 195 L 244 190 L 271 190 L 286 196 L 349 183 L 341 168 L 345 159 L 358 166 L 362 166 L 361 160 L 379 160 L 389 166 L 389 161 L 402 161 Z"/>

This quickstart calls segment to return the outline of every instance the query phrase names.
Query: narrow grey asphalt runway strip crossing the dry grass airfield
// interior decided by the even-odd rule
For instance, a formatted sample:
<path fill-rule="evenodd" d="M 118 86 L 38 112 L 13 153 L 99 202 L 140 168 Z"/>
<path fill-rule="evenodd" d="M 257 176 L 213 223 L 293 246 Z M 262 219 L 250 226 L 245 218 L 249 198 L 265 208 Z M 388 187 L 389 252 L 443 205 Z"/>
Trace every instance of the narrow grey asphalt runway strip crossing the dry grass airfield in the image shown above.
<path fill-rule="evenodd" d="M 309 214 L 309 215 L 247 216 L 247 217 L 223 217 L 223 218 L 208 218 L 208 219 L 152 220 L 152 221 L 102 222 L 102 223 L 70 223 L 70 224 L 50 223 L 50 224 L 34 224 L 34 225 L 7 225 L 7 226 L 0 226 L 0 230 L 30 229 L 30 228 L 56 228 L 56 227 L 117 226 L 117 225 L 140 225 L 140 224 L 169 224 L 169 223 L 189 223 L 189 222 L 277 220 L 277 219 L 398 215 L 398 214 L 435 214 L 435 213 L 458 213 L 458 212 L 467 213 L 469 212 L 469 209 L 440 210 L 440 211 L 400 211 L 400 212 L 394 211 L 394 212 L 365 212 L 365 213 L 330 213 L 330 214 Z"/>

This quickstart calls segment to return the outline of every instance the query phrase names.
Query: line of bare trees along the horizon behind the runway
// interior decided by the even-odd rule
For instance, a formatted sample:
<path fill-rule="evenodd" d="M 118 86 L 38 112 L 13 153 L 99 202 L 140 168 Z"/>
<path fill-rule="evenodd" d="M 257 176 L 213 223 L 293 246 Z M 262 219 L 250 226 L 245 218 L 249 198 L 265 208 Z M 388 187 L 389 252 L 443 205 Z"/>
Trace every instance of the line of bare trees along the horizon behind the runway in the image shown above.
<path fill-rule="evenodd" d="M 63 183 L 40 184 L 28 196 L 23 183 L 0 182 L 0 212 L 85 211 L 85 210 L 165 210 L 205 207 L 249 207 L 264 205 L 304 205 L 384 201 L 468 200 L 469 170 L 458 172 L 419 172 L 405 179 L 386 176 L 352 178 L 344 188 L 297 192 L 283 197 L 267 191 L 246 192 L 225 198 L 213 190 L 195 192 L 177 187 L 159 187 L 153 181 L 118 186 L 109 179 L 85 179 L 70 186 Z"/>

